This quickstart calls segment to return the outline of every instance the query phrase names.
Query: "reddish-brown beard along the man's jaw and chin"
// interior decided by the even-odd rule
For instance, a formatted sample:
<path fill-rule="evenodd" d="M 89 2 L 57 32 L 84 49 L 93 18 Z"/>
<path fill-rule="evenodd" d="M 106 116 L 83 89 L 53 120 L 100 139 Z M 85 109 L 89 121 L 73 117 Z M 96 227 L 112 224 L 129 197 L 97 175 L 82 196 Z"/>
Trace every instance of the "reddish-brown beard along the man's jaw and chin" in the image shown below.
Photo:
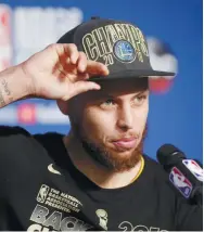
<path fill-rule="evenodd" d="M 143 154 L 143 143 L 148 133 L 148 126 L 145 125 L 139 144 L 129 155 L 120 155 L 117 152 L 107 150 L 102 144 L 91 142 L 78 125 L 74 126 L 73 132 L 81 142 L 84 150 L 92 159 L 111 171 L 122 172 L 130 170 L 140 162 L 141 155 Z"/>

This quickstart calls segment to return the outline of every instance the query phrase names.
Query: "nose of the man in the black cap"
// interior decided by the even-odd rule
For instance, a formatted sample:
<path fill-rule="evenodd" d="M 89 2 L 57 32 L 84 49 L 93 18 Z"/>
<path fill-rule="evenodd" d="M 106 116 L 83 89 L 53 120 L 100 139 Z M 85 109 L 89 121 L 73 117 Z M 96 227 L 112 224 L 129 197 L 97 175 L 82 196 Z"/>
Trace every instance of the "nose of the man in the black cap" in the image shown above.
<path fill-rule="evenodd" d="M 124 131 L 132 129 L 132 124 L 133 124 L 132 111 L 133 109 L 131 108 L 130 105 L 123 105 L 123 107 L 118 109 L 117 126 Z"/>

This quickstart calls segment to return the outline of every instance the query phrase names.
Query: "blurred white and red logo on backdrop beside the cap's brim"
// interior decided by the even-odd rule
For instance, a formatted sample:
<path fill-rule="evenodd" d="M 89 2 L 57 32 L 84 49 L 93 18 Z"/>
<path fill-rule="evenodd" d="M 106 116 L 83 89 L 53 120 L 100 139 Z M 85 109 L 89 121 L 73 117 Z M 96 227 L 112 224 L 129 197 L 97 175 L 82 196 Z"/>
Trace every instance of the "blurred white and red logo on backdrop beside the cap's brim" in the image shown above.
<path fill-rule="evenodd" d="M 171 51 L 170 44 L 157 38 L 146 38 L 150 53 L 150 63 L 153 69 L 178 73 L 178 59 Z M 166 93 L 174 83 L 175 76 L 151 77 L 150 89 L 154 93 Z"/>

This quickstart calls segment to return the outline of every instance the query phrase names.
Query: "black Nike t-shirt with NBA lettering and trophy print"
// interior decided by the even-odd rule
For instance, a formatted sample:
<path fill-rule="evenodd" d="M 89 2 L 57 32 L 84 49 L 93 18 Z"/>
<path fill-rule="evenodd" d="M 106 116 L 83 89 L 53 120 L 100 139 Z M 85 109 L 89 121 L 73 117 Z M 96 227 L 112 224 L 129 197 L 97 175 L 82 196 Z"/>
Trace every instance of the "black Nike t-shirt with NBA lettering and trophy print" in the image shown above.
<path fill-rule="evenodd" d="M 135 182 L 105 190 L 74 167 L 62 134 L 0 127 L 0 230 L 202 231 L 202 207 L 143 158 Z"/>

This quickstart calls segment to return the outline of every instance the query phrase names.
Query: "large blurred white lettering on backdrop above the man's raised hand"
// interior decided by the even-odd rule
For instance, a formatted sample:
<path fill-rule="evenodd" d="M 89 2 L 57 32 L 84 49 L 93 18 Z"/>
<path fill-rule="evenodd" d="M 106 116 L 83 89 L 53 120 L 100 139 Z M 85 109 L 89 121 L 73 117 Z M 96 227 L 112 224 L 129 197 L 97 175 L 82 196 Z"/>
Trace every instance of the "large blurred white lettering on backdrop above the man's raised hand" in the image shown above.
<path fill-rule="evenodd" d="M 15 8 L 13 10 L 14 63 L 58 41 L 67 30 L 82 22 L 78 8 Z"/>

